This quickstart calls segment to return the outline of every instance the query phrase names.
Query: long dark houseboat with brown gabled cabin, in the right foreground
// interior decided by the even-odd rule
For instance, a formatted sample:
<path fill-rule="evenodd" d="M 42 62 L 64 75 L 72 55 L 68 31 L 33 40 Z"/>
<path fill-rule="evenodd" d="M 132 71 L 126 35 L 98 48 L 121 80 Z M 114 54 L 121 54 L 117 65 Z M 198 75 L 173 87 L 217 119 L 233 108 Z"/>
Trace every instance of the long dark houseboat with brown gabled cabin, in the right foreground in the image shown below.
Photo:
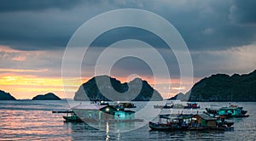
<path fill-rule="evenodd" d="M 218 119 L 207 114 L 196 115 L 178 115 L 170 117 L 169 115 L 160 115 L 157 123 L 149 121 L 149 127 L 158 131 L 232 131 L 234 122 L 224 121 L 224 118 Z"/>

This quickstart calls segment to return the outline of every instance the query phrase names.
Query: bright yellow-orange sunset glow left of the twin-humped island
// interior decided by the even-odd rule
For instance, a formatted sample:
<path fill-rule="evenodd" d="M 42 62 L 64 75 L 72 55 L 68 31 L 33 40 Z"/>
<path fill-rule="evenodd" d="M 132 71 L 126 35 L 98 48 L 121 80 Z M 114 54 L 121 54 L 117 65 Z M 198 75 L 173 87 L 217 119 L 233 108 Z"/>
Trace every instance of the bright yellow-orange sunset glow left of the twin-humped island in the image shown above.
<path fill-rule="evenodd" d="M 74 78 L 65 78 L 65 92 L 75 93 L 80 81 Z M 67 98 L 63 89 L 61 77 L 38 77 L 31 75 L 5 74 L 0 75 L 0 89 L 12 94 L 16 99 L 32 99 L 38 94 L 55 93 L 60 98 Z"/>

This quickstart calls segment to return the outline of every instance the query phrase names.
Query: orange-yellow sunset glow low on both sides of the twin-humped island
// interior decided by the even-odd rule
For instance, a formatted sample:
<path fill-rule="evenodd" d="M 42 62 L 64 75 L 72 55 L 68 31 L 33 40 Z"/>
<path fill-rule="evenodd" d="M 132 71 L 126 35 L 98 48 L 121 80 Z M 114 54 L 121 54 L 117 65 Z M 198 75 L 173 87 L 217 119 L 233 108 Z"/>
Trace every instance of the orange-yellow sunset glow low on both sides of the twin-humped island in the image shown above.
<path fill-rule="evenodd" d="M 9 71 L 9 72 L 34 72 L 36 70 L 11 70 L 5 69 L 0 71 Z M 47 71 L 47 70 L 43 70 Z M 42 72 L 42 71 L 36 71 Z M 44 93 L 55 93 L 62 99 L 69 98 L 72 99 L 74 93 L 78 90 L 79 86 L 83 82 L 87 82 L 90 78 L 65 78 L 63 80 L 61 77 L 39 77 L 39 76 L 29 76 L 23 75 L 18 76 L 15 73 L 1 74 L 0 75 L 0 87 L 15 96 L 16 99 L 32 99 L 34 96 L 38 94 Z M 127 77 L 117 77 L 120 82 L 128 82 Z M 143 80 L 147 80 L 148 83 L 154 87 L 154 85 L 158 85 L 158 87 L 162 87 L 162 89 L 157 89 L 162 92 L 162 96 L 164 98 L 169 98 L 175 95 L 179 90 L 187 91 L 186 87 L 166 87 L 168 82 L 163 80 L 162 84 L 154 84 L 154 79 L 148 79 L 146 76 L 142 76 Z M 63 81 L 65 81 L 65 87 L 63 87 Z M 179 80 L 172 80 L 173 85 L 178 84 Z M 161 86 L 163 85 L 163 86 Z M 172 86 L 172 84 L 171 84 Z M 64 93 L 65 88 L 65 93 Z M 169 91 L 169 93 L 168 93 Z M 166 93 L 165 93 L 166 92 Z M 185 93 L 185 92 L 184 92 Z"/>

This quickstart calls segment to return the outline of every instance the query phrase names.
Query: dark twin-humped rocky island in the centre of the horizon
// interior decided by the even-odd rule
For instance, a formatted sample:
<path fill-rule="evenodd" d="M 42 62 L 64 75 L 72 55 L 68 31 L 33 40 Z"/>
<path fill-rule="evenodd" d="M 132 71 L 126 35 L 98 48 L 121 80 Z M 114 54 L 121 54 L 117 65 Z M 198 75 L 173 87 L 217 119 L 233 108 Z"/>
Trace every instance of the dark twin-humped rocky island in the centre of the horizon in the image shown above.
<path fill-rule="evenodd" d="M 96 83 L 97 82 L 97 83 Z M 99 86 L 97 86 L 97 84 Z M 142 85 L 140 85 L 142 84 Z M 142 86 L 142 87 L 139 87 Z M 113 88 L 112 88 L 113 87 Z M 130 88 L 131 89 L 130 89 Z M 102 92 L 104 94 L 102 94 Z M 105 95 L 105 96 L 104 96 Z M 106 98 L 106 95 L 108 99 Z M 149 101 L 163 100 L 160 93 L 148 82 L 135 78 L 131 82 L 121 83 L 110 76 L 95 76 L 79 87 L 73 98 L 76 101 L 114 100 L 114 101 Z"/>

